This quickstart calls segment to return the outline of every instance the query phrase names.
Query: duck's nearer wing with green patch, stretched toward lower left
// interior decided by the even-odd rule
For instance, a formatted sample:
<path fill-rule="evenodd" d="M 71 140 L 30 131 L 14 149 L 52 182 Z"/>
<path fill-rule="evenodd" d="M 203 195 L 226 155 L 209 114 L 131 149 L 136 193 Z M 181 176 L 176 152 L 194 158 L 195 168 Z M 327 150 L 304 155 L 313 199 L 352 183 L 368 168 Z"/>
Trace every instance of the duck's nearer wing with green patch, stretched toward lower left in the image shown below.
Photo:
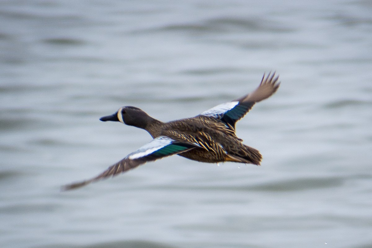
<path fill-rule="evenodd" d="M 141 146 L 136 151 L 128 154 L 128 156 L 126 156 L 124 159 L 110 166 L 107 170 L 103 171 L 103 173 L 97 175 L 96 177 L 89 180 L 62 186 L 62 190 L 76 189 L 94 181 L 123 173 L 137 167 L 138 165 L 144 164 L 145 162 L 154 161 L 173 154 L 179 154 L 195 147 L 201 146 L 197 144 L 176 141 L 167 136 L 160 136 L 153 139 L 148 144 Z"/>

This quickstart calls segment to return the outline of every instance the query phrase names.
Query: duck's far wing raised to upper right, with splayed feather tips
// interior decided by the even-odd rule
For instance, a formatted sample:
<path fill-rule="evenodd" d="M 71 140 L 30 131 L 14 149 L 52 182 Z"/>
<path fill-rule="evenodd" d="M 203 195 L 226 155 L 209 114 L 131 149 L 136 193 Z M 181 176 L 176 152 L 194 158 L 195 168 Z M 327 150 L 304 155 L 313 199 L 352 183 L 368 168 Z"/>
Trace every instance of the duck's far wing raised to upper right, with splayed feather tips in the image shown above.
<path fill-rule="evenodd" d="M 230 129 L 235 131 L 235 123 L 246 115 L 256 102 L 270 97 L 278 90 L 280 85 L 280 82 L 278 82 L 279 76 L 275 77 L 275 72 L 272 75 L 270 74 L 271 73 L 269 73 L 267 77 L 263 74 L 259 87 L 253 92 L 232 102 L 219 104 L 204 111 L 200 115 L 222 120 Z"/>

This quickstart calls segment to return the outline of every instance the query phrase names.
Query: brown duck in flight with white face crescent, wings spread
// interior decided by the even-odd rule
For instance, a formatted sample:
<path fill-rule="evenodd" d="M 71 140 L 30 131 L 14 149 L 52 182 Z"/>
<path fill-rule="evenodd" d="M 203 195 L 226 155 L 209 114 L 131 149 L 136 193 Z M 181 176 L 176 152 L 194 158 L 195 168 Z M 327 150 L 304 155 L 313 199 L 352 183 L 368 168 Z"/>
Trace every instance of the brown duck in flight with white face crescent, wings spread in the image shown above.
<path fill-rule="evenodd" d="M 238 162 L 260 165 L 260 152 L 244 145 L 235 134 L 235 123 L 252 108 L 278 90 L 279 76 L 263 74 L 260 85 L 253 92 L 228 103 L 222 103 L 186 119 L 161 122 L 143 110 L 125 106 L 113 115 L 103 116 L 102 121 L 116 121 L 145 129 L 153 140 L 128 154 L 101 174 L 89 180 L 62 186 L 62 190 L 82 187 L 94 181 L 123 173 L 148 161 L 170 155 L 180 155 L 191 160 L 208 163 Z"/>

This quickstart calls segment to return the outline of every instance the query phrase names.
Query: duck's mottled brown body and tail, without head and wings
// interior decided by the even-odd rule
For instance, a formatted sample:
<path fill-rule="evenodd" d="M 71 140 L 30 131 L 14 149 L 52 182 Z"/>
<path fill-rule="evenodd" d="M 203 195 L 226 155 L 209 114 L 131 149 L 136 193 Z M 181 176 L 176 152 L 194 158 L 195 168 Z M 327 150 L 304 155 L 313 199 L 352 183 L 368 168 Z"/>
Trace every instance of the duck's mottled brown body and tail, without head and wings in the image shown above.
<path fill-rule="evenodd" d="M 198 144 L 179 155 L 199 162 L 243 162 L 260 164 L 261 154 L 246 146 L 221 120 L 195 116 L 165 123 L 161 135 L 173 139 Z"/>

